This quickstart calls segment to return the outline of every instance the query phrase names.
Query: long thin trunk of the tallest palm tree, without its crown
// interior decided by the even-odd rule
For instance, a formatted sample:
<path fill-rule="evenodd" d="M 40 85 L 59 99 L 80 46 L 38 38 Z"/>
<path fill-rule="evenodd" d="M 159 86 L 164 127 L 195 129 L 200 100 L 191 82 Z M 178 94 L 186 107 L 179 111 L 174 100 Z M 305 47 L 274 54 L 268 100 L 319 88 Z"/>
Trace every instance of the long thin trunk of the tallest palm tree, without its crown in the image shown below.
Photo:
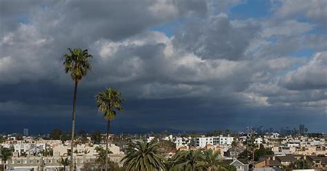
<path fill-rule="evenodd" d="M 76 118 L 76 99 L 77 99 L 77 84 L 75 80 L 74 99 L 72 100 L 72 139 L 70 145 L 70 171 L 75 170 L 74 163 L 72 162 L 72 154 L 74 152 L 74 134 L 75 134 L 75 118 Z"/>

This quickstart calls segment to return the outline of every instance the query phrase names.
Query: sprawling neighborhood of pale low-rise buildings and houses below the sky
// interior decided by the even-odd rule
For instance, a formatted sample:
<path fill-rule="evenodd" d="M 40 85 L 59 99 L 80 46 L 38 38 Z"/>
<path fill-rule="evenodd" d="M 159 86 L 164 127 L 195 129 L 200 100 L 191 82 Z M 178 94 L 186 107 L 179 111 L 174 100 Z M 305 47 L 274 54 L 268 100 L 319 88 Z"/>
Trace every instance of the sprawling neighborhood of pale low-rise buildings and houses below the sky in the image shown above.
<path fill-rule="evenodd" d="M 2 135 L 1 152 L 9 150 L 10 154 L 6 158 L 1 155 L 1 167 L 7 170 L 63 170 L 67 163 L 62 160 L 69 157 L 71 143 L 69 140 L 50 138 L 56 137 L 53 134 L 56 131 L 43 137 Z M 211 150 L 217 153 L 219 165 L 230 165 L 237 171 L 327 169 L 326 134 L 218 133 L 110 134 L 108 157 L 122 167 L 128 142 L 158 142 L 161 144 L 159 151 L 168 161 L 179 152 Z M 63 133 L 59 137 L 63 137 Z M 85 165 L 99 159 L 101 149 L 106 148 L 104 137 L 105 134 L 99 132 L 79 134 L 73 152 L 77 170 L 86 170 Z"/>

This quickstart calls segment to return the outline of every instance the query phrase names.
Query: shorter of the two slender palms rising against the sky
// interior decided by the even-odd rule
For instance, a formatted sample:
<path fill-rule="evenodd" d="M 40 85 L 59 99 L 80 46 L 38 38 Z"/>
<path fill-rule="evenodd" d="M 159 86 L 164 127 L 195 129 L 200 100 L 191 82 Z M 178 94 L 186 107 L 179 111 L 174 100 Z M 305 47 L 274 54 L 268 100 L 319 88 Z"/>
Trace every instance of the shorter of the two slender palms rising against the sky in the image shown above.
<path fill-rule="evenodd" d="M 107 136 L 106 136 L 106 171 L 108 170 L 108 138 L 110 132 L 110 121 L 115 119 L 116 111 L 123 110 L 121 107 L 121 93 L 118 90 L 108 88 L 103 92 L 99 92 L 96 97 L 97 107 L 100 112 L 104 113 L 104 117 L 107 119 Z"/>

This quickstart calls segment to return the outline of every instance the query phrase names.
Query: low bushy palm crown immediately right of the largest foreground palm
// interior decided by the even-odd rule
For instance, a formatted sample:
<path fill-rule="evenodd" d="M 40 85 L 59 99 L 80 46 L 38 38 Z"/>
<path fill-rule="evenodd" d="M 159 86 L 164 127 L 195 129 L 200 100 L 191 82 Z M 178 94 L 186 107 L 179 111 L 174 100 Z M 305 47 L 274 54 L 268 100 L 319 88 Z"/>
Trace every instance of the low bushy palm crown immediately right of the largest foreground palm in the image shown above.
<path fill-rule="evenodd" d="M 177 152 L 172 157 L 172 170 L 203 170 L 204 156 L 201 150 L 184 150 Z"/>

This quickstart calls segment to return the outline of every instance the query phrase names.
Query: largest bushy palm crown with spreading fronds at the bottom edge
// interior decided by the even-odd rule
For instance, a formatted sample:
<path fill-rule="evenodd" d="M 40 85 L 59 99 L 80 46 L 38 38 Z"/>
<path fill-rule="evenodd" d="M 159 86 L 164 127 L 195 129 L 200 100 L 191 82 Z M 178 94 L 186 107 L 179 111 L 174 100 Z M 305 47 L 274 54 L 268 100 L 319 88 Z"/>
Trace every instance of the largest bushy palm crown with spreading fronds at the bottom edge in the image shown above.
<path fill-rule="evenodd" d="M 159 143 L 137 142 L 129 143 L 126 148 L 126 156 L 123 161 L 123 170 L 128 171 L 152 171 L 166 170 L 165 159 L 159 154 Z"/>

